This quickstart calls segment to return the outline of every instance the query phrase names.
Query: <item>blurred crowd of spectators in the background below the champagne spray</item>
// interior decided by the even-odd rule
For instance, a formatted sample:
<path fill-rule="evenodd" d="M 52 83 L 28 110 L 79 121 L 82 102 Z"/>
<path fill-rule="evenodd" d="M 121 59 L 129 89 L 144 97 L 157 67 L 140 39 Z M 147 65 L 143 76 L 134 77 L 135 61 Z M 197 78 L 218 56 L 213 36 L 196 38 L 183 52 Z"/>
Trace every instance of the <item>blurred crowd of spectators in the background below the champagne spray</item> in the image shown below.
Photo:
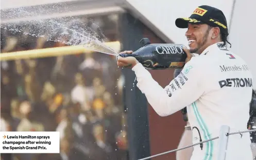
<path fill-rule="evenodd" d="M 26 39 L 6 36 L 1 53 L 65 46 Z M 1 131 L 60 132 L 60 154 L 14 159 L 127 159 L 123 87 L 115 57 L 103 53 L 1 62 Z"/>

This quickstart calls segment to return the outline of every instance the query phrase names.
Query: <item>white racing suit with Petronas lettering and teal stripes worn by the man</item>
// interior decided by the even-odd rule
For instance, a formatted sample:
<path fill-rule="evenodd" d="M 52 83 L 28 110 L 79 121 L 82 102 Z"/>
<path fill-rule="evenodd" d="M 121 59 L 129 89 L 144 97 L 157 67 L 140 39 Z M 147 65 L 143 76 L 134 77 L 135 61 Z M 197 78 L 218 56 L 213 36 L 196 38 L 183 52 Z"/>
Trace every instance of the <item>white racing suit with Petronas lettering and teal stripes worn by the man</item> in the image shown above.
<path fill-rule="evenodd" d="M 216 43 L 192 57 L 181 73 L 162 88 L 142 66 L 135 65 L 138 88 L 160 116 L 187 108 L 193 144 L 230 132 L 247 130 L 252 74 L 241 57 Z M 191 160 L 218 160 L 219 139 L 194 147 Z M 226 160 L 252 160 L 249 133 L 229 135 Z"/>

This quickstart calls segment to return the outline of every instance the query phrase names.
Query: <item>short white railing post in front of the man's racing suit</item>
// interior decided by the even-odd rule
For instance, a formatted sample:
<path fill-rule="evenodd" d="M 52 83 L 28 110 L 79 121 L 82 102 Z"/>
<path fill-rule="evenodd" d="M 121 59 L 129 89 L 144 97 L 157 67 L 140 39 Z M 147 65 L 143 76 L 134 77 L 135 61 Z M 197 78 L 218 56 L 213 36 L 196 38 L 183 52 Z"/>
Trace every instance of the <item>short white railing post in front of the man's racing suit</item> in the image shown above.
<path fill-rule="evenodd" d="M 219 146 L 218 146 L 218 160 L 225 160 L 226 151 L 228 147 L 228 137 L 227 133 L 229 133 L 229 126 L 221 126 L 219 131 Z"/>

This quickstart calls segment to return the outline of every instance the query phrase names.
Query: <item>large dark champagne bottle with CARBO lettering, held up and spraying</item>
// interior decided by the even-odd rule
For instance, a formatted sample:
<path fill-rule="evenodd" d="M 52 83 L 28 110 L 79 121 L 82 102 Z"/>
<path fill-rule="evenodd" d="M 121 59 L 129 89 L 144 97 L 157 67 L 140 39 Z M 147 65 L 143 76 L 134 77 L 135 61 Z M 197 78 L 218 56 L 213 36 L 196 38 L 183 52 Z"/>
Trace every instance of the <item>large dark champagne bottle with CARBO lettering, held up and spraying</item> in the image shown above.
<path fill-rule="evenodd" d="M 182 49 L 184 45 L 150 44 L 148 38 L 141 39 L 140 44 L 142 47 L 132 54 L 123 53 L 118 56 L 133 56 L 145 68 L 152 70 L 182 68 L 185 65 L 186 53 Z"/>

